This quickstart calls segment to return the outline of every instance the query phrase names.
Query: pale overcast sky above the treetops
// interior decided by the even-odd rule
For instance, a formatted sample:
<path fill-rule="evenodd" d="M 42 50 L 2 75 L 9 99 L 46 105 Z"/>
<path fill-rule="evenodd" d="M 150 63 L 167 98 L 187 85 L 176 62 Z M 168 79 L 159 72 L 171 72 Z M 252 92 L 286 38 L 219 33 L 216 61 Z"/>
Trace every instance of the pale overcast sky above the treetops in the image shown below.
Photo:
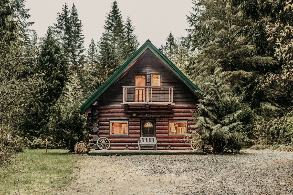
<path fill-rule="evenodd" d="M 91 38 L 95 42 L 100 40 L 104 31 L 103 25 L 106 14 L 114 0 L 26 0 L 25 7 L 30 8 L 32 15 L 30 20 L 35 22 L 32 29 L 35 29 L 39 37 L 46 34 L 49 25 L 56 22 L 57 12 L 62 11 L 64 2 L 71 8 L 72 3 L 76 5 L 79 19 L 83 25 L 85 37 L 84 46 L 88 47 Z M 123 20 L 130 15 L 135 25 L 135 34 L 143 44 L 149 39 L 156 47 L 165 40 L 169 32 L 174 37 L 186 36 L 188 28 L 186 15 L 189 15 L 193 4 L 192 0 L 117 0 L 122 13 Z"/>

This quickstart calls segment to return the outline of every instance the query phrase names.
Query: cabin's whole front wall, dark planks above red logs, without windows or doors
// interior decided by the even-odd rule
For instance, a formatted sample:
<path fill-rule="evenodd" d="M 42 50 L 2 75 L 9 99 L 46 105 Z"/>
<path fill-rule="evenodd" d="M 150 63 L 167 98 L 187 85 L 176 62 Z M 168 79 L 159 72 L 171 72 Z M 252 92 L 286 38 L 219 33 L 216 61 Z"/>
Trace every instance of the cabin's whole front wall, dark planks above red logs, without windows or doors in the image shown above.
<path fill-rule="evenodd" d="M 151 73 L 161 73 L 161 85 L 174 86 L 173 100 L 176 105 L 172 110 L 168 110 L 167 106 L 150 106 L 149 110 L 146 110 L 144 106 L 130 106 L 129 110 L 123 109 L 120 104 L 122 103 L 122 86 L 133 86 L 134 75 L 139 73 L 147 74 L 147 85 L 150 85 Z M 193 125 L 194 121 L 190 112 L 196 112 L 197 97 L 173 73 L 170 73 L 151 51 L 147 51 L 123 77 L 112 84 L 98 98 L 98 102 L 100 103 L 97 108 L 99 137 L 110 139 L 110 149 L 125 149 L 125 144 L 128 144 L 130 149 L 138 149 L 141 119 L 147 118 L 156 119 L 158 149 L 163 149 L 165 145 L 171 145 L 175 149 L 190 149 L 183 135 L 168 135 L 168 120 L 188 120 L 188 125 Z M 131 118 L 132 112 L 137 112 L 138 117 Z M 147 117 L 146 114 L 151 114 L 151 117 Z M 109 135 L 109 120 L 129 120 L 129 135 Z M 91 146 L 95 144 L 92 139 L 94 134 L 97 133 L 91 132 L 89 135 Z"/>

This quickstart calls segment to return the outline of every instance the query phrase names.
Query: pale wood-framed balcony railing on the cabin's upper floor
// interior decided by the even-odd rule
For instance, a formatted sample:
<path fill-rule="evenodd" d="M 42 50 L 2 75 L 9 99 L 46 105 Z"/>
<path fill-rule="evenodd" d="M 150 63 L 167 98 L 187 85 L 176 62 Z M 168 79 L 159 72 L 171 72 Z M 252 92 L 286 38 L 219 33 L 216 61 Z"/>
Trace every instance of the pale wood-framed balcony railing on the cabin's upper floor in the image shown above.
<path fill-rule="evenodd" d="M 122 86 L 123 102 L 136 103 L 173 103 L 173 86 Z"/>

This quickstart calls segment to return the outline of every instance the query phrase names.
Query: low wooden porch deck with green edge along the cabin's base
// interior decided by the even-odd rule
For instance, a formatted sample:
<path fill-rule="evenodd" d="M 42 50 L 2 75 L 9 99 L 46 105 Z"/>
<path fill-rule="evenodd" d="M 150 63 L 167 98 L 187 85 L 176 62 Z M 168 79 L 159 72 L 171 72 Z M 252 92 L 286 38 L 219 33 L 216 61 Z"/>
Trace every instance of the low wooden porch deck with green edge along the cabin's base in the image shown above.
<path fill-rule="evenodd" d="M 89 151 L 88 155 L 113 156 L 113 155 L 178 155 L 178 154 L 201 154 L 206 152 L 193 150 L 95 150 Z"/>

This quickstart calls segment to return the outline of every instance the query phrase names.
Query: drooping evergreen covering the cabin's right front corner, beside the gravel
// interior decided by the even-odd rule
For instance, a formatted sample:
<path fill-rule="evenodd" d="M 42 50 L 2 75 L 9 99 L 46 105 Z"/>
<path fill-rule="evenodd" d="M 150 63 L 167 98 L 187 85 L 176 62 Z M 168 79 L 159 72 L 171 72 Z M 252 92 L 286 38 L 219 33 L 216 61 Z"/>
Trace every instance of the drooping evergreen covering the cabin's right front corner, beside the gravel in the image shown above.
<path fill-rule="evenodd" d="M 248 134 L 253 128 L 250 124 L 254 113 L 231 94 L 228 75 L 215 66 L 214 75 L 198 81 L 202 83 L 202 92 L 198 93 L 202 98 L 196 104 L 198 112 L 193 113 L 197 122 L 185 137 L 199 150 L 238 152 L 250 143 Z"/>

